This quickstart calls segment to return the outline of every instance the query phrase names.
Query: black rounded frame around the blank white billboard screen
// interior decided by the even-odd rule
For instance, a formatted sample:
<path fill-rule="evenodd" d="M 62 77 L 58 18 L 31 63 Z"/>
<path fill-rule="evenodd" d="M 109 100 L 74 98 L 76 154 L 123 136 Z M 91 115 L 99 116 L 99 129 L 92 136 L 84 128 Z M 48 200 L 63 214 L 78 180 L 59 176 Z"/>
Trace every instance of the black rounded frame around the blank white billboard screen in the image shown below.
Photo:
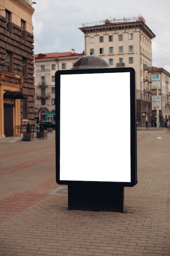
<path fill-rule="evenodd" d="M 97 73 L 130 73 L 130 162 L 131 182 L 103 182 L 103 181 L 81 181 L 81 180 L 60 180 L 60 77 L 69 74 L 97 74 Z M 131 67 L 102 68 L 102 69 L 79 69 L 79 70 L 58 70 L 55 73 L 55 139 L 56 139 L 56 182 L 64 185 L 77 186 L 127 186 L 137 184 L 137 127 L 136 127 L 136 85 L 135 70 Z"/>

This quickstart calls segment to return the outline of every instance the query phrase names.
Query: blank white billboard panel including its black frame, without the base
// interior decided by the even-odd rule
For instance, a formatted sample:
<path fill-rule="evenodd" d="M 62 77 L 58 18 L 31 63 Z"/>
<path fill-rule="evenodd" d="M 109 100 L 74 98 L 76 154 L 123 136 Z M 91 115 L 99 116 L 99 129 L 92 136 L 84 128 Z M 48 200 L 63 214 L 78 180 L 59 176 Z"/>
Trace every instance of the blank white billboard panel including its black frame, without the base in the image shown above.
<path fill-rule="evenodd" d="M 134 186 L 135 70 L 59 70 L 55 104 L 57 183 Z"/>

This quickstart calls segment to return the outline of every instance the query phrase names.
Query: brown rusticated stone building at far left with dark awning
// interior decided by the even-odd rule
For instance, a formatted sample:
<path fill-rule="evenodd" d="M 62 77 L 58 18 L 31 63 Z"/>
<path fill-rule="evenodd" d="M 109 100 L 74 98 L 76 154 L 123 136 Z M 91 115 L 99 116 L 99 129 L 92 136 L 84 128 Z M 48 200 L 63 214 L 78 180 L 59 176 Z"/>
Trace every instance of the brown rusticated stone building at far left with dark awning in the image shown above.
<path fill-rule="evenodd" d="M 0 1 L 0 138 L 34 121 L 31 0 Z"/>

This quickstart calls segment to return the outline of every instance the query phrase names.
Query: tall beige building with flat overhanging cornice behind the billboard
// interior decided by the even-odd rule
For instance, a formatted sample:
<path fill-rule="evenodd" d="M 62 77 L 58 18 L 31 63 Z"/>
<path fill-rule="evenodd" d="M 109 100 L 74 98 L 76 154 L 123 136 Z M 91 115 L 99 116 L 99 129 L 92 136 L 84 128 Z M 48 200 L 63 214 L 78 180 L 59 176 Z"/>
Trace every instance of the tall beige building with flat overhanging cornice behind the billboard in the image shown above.
<path fill-rule="evenodd" d="M 85 55 L 96 54 L 108 61 L 111 67 L 133 67 L 136 71 L 137 121 L 142 126 L 146 110 L 151 110 L 152 43 L 155 34 L 143 17 L 104 20 L 95 24 L 83 24 Z M 120 88 L 120 104 L 121 88 Z M 119 110 L 119 106 L 117 106 Z M 126 115 L 119 113 L 119 117 Z M 151 125 L 152 118 L 148 117 Z"/>

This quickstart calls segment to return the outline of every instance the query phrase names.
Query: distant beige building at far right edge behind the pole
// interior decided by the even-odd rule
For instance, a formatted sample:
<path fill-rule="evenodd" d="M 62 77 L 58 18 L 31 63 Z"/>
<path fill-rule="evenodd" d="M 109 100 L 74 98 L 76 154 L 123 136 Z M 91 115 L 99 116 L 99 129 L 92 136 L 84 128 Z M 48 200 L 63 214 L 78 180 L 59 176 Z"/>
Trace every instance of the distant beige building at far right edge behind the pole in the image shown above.
<path fill-rule="evenodd" d="M 157 114 L 159 126 L 164 127 L 170 119 L 170 73 L 162 67 L 152 67 L 152 126 L 156 126 Z"/>

